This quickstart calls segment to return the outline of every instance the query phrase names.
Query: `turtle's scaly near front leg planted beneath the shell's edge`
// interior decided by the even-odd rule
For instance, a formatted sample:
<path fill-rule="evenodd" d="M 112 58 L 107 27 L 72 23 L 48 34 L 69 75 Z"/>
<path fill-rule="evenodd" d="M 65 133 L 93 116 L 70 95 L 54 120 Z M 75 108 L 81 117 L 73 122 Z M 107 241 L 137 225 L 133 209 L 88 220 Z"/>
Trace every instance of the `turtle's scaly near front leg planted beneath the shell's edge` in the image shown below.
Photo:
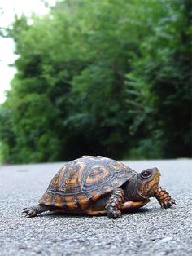
<path fill-rule="evenodd" d="M 115 188 L 111 193 L 107 202 L 106 210 L 108 218 L 120 218 L 120 205 L 124 200 L 124 190 L 122 188 Z"/>

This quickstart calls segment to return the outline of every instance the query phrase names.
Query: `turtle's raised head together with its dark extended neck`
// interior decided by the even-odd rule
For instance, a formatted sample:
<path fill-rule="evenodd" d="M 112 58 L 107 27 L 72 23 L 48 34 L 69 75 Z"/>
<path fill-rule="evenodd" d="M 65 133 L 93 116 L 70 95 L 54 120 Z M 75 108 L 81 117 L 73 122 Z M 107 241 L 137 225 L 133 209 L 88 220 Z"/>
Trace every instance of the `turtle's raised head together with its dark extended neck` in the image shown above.
<path fill-rule="evenodd" d="M 142 170 L 141 173 L 133 175 L 125 188 L 126 194 L 131 201 L 141 201 L 154 196 L 155 188 L 159 184 L 160 173 L 155 168 Z"/>

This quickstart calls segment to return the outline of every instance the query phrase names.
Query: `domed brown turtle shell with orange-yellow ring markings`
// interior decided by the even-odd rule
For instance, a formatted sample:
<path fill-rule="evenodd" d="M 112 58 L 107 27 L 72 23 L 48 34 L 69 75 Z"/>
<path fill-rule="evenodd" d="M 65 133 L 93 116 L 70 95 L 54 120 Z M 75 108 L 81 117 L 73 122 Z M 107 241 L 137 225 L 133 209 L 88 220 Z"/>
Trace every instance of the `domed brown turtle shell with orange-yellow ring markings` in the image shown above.
<path fill-rule="evenodd" d="M 51 180 L 39 203 L 85 210 L 90 202 L 120 187 L 136 172 L 120 161 L 106 157 L 81 157 L 69 161 Z"/>

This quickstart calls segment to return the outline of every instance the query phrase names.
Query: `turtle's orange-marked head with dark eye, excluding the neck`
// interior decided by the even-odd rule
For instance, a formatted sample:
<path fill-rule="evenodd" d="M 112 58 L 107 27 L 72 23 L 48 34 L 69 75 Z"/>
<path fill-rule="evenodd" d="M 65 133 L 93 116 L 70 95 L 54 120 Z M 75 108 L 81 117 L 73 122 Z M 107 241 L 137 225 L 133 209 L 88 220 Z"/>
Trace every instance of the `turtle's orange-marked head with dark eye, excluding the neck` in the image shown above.
<path fill-rule="evenodd" d="M 155 168 L 142 170 L 137 174 L 137 192 L 140 196 L 148 198 L 154 195 L 155 189 L 159 185 L 160 173 Z"/>

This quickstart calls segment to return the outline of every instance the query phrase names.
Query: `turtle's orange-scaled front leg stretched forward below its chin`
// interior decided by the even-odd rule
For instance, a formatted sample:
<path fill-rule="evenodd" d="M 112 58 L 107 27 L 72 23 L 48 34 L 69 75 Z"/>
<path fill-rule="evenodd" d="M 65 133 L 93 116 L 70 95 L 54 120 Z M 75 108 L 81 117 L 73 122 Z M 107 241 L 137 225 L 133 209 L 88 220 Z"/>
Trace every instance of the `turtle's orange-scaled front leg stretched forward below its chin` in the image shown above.
<path fill-rule="evenodd" d="M 159 186 L 155 189 L 154 196 L 159 201 L 161 208 L 170 208 L 176 204 L 176 200 L 172 199 L 168 192 Z"/>

